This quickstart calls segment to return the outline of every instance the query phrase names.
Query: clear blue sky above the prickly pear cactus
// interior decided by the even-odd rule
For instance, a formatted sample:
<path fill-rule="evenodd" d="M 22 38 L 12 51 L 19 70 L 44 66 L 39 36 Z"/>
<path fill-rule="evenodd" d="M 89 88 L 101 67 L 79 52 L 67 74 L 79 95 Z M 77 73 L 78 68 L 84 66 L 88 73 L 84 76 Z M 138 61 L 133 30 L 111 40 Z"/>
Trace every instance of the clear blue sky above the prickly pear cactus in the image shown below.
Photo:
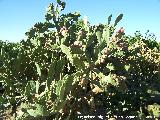
<path fill-rule="evenodd" d="M 117 28 L 124 27 L 133 35 L 147 30 L 160 41 L 160 0 L 64 0 L 65 13 L 78 11 L 88 16 L 91 24 L 105 23 L 112 14 L 123 13 Z M 19 42 L 36 22 L 43 22 L 46 7 L 56 0 L 0 0 L 0 40 Z"/>

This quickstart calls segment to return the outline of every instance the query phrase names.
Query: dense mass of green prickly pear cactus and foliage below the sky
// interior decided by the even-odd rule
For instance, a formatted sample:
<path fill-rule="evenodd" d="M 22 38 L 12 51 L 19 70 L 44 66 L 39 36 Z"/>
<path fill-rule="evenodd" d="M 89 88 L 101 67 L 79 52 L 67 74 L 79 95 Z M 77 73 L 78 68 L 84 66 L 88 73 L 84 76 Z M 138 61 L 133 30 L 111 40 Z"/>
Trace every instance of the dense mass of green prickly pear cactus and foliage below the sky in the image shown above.
<path fill-rule="evenodd" d="M 0 108 L 16 106 L 17 119 L 76 119 L 99 109 L 111 117 L 159 117 L 159 43 L 116 32 L 123 14 L 91 26 L 77 12 L 60 14 L 64 8 L 60 0 L 50 4 L 26 41 L 0 41 Z"/>

